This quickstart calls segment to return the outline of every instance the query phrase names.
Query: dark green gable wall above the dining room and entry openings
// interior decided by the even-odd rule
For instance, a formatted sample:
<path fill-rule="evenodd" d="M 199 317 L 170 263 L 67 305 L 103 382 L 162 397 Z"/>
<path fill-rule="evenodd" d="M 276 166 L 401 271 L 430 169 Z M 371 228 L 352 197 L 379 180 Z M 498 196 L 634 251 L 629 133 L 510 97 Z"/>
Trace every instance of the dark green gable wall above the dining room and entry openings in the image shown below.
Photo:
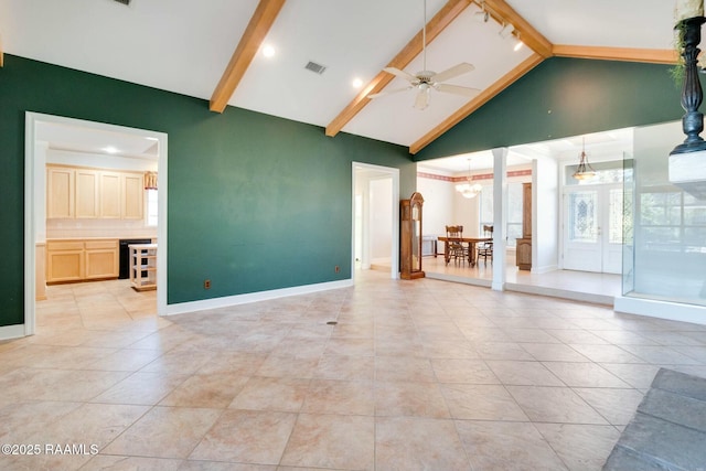
<path fill-rule="evenodd" d="M 416 161 L 680 119 L 661 64 L 554 57 L 421 149 Z"/>

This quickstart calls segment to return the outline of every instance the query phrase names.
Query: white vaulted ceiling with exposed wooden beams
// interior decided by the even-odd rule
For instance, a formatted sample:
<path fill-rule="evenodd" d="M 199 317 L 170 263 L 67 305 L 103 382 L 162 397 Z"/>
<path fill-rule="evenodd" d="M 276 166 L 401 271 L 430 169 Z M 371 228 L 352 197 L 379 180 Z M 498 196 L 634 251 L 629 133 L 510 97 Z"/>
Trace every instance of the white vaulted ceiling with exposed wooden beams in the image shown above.
<path fill-rule="evenodd" d="M 426 10 L 425 0 L 0 0 L 0 51 L 200 97 L 213 113 L 232 105 L 416 153 L 547 57 L 675 62 L 673 8 L 643 0 L 426 0 Z M 415 89 L 367 98 L 408 85 L 383 68 L 424 68 L 425 18 L 427 68 L 470 63 L 472 72 L 448 83 L 478 93 L 431 90 L 424 110 L 413 107 Z M 514 33 L 503 38 L 507 24 Z"/>

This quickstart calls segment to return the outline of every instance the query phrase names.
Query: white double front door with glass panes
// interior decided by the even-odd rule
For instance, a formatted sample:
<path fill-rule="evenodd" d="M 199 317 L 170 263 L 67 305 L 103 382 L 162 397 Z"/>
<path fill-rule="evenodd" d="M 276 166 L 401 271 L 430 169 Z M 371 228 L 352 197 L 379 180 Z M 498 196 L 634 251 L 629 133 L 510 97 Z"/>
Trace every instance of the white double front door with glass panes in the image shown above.
<path fill-rule="evenodd" d="M 621 184 L 568 188 L 564 194 L 564 268 L 620 274 Z"/>

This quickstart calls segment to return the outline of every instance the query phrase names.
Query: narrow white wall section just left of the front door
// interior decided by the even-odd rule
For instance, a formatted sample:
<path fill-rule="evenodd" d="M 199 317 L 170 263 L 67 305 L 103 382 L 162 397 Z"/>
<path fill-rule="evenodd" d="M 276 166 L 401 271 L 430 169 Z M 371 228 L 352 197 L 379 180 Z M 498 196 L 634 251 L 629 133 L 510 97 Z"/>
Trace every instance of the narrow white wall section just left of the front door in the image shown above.
<path fill-rule="evenodd" d="M 549 158 L 532 164 L 532 272 L 559 264 L 559 164 Z"/>

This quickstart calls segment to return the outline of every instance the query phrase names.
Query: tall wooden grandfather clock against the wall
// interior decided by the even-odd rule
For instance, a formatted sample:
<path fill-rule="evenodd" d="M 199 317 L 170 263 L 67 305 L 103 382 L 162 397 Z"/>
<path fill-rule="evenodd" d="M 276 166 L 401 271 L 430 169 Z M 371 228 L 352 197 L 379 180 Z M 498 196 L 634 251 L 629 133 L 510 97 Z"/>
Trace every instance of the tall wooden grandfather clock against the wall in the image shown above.
<path fill-rule="evenodd" d="M 421 205 L 424 197 L 415 192 L 399 202 L 402 240 L 399 245 L 400 277 L 406 280 L 424 278 L 421 271 Z"/>

